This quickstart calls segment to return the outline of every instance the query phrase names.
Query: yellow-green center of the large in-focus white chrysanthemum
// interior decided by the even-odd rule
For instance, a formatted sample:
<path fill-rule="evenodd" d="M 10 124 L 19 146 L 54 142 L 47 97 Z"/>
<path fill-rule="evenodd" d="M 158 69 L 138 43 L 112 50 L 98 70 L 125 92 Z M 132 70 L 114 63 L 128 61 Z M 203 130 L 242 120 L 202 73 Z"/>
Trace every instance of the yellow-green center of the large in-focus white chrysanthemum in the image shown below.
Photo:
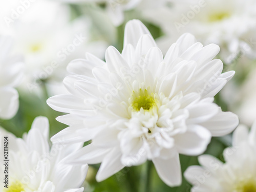
<path fill-rule="evenodd" d="M 133 92 L 132 94 L 132 106 L 136 111 L 140 111 L 141 108 L 146 111 L 150 111 L 154 105 L 156 105 L 154 94 L 148 94 L 147 90 L 139 90 L 139 93 Z"/>

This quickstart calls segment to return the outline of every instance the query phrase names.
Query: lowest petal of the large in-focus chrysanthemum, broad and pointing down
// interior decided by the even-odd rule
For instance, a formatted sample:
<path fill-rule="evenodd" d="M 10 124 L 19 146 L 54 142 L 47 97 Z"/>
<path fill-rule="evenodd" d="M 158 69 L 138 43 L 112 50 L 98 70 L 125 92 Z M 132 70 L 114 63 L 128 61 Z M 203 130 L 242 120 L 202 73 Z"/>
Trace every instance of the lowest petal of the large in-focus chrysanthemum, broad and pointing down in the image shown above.
<path fill-rule="evenodd" d="M 168 186 L 181 185 L 181 167 L 179 154 L 171 159 L 154 158 L 153 163 L 162 181 Z"/>

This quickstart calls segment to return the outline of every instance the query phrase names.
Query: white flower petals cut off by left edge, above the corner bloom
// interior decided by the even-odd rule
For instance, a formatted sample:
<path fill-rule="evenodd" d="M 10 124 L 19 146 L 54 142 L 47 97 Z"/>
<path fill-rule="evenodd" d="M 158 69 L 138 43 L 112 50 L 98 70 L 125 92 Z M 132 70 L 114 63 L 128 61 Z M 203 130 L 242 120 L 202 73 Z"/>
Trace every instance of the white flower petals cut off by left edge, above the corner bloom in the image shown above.
<path fill-rule="evenodd" d="M 12 40 L 0 36 L 0 118 L 10 119 L 18 111 L 18 92 L 14 89 L 23 77 L 24 63 L 19 56 L 11 56 Z"/>

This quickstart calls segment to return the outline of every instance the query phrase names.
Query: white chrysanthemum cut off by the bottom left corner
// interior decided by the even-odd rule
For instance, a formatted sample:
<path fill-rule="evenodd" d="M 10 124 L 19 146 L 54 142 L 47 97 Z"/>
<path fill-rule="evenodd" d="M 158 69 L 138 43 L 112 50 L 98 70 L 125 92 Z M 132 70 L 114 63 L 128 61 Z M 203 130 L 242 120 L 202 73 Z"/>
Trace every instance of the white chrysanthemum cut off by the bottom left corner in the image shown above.
<path fill-rule="evenodd" d="M 63 159 L 82 147 L 83 143 L 49 146 L 49 122 L 37 117 L 23 139 L 0 130 L 1 154 L 4 154 L 5 137 L 8 136 L 8 176 L 1 182 L 3 192 L 82 192 L 79 188 L 86 178 L 88 165 L 65 164 Z M 2 156 L 4 157 L 4 156 Z M 5 159 L 6 160 L 6 159 Z M 4 170 L 3 170 L 4 169 Z M 3 179 L 3 178 L 2 178 Z"/>

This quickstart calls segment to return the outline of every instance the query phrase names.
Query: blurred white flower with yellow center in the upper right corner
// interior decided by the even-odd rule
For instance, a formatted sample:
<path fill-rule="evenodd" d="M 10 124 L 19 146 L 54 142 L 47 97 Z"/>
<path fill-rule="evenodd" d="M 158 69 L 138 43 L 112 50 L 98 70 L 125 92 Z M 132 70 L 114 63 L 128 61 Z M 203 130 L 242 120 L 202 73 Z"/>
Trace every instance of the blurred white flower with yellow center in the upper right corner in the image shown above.
<path fill-rule="evenodd" d="M 168 42 L 192 33 L 204 45 L 221 47 L 220 56 L 231 62 L 240 52 L 255 58 L 256 3 L 253 0 L 206 0 L 177 2 L 170 7 L 145 11 L 144 15 L 160 25 L 166 34 L 159 45 L 167 50 Z"/>

